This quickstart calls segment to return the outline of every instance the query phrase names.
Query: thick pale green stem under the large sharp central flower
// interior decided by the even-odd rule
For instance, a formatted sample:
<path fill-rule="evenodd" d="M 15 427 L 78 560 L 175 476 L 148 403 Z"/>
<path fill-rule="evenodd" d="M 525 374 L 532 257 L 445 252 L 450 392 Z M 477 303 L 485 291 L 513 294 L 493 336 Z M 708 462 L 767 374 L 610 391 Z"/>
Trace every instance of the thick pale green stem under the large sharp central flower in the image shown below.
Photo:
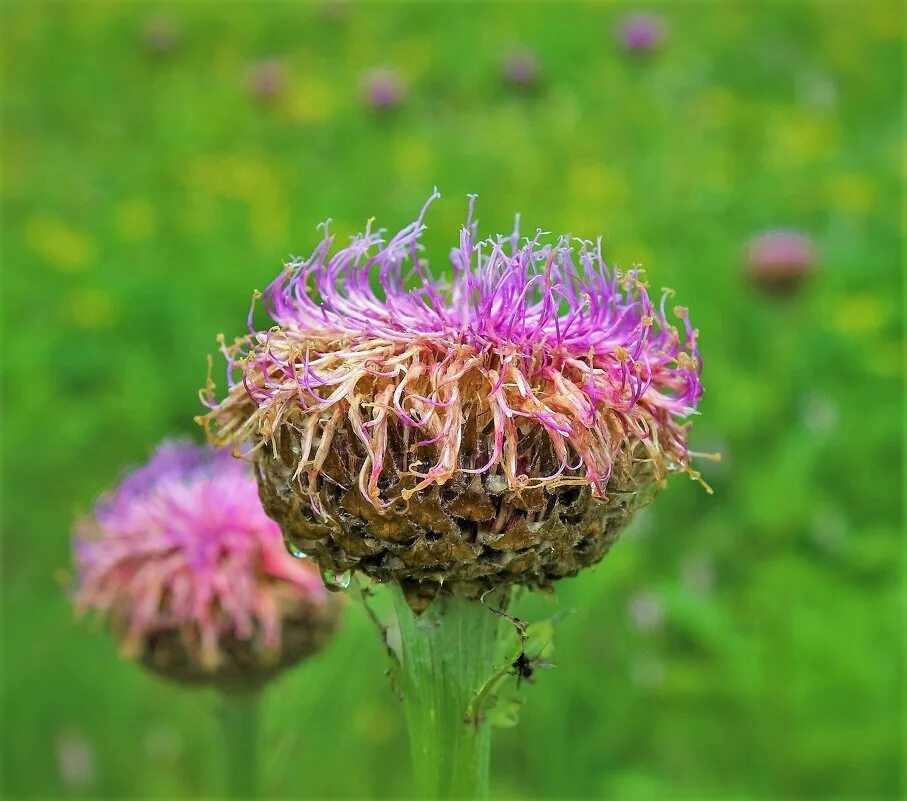
<path fill-rule="evenodd" d="M 444 595 L 417 617 L 399 587 L 394 603 L 415 794 L 485 798 L 491 727 L 473 701 L 495 671 L 501 618 L 478 601 Z"/>

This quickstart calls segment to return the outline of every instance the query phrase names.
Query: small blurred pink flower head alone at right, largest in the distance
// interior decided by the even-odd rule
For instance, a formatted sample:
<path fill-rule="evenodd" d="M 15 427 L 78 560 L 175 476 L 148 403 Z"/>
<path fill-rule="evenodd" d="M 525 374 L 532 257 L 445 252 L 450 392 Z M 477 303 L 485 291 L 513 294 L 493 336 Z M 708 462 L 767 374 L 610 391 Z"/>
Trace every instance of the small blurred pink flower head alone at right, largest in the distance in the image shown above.
<path fill-rule="evenodd" d="M 745 267 L 760 289 L 786 295 L 798 289 L 816 268 L 816 247 L 798 231 L 766 231 L 746 247 Z"/>

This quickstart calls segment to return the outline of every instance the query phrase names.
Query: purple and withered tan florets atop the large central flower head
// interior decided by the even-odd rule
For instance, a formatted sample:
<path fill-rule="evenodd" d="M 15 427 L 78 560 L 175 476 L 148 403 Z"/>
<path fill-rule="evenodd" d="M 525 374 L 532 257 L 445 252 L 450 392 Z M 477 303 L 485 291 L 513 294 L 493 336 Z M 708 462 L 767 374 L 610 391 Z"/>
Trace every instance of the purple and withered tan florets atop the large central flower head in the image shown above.
<path fill-rule="evenodd" d="M 340 428 L 364 449 L 358 485 L 376 509 L 458 473 L 600 498 L 618 469 L 698 476 L 683 424 L 702 394 L 687 310 L 673 310 L 678 330 L 670 293 L 654 304 L 638 269 L 606 266 L 600 240 L 479 241 L 473 200 L 451 279 L 422 257 L 428 204 L 389 240 L 369 224 L 336 252 L 325 224 L 263 293 L 276 325 L 257 331 L 250 313 L 251 333 L 222 343 L 228 394 L 218 401 L 209 379 L 204 396 L 212 439 L 290 461 L 316 512 Z"/>

